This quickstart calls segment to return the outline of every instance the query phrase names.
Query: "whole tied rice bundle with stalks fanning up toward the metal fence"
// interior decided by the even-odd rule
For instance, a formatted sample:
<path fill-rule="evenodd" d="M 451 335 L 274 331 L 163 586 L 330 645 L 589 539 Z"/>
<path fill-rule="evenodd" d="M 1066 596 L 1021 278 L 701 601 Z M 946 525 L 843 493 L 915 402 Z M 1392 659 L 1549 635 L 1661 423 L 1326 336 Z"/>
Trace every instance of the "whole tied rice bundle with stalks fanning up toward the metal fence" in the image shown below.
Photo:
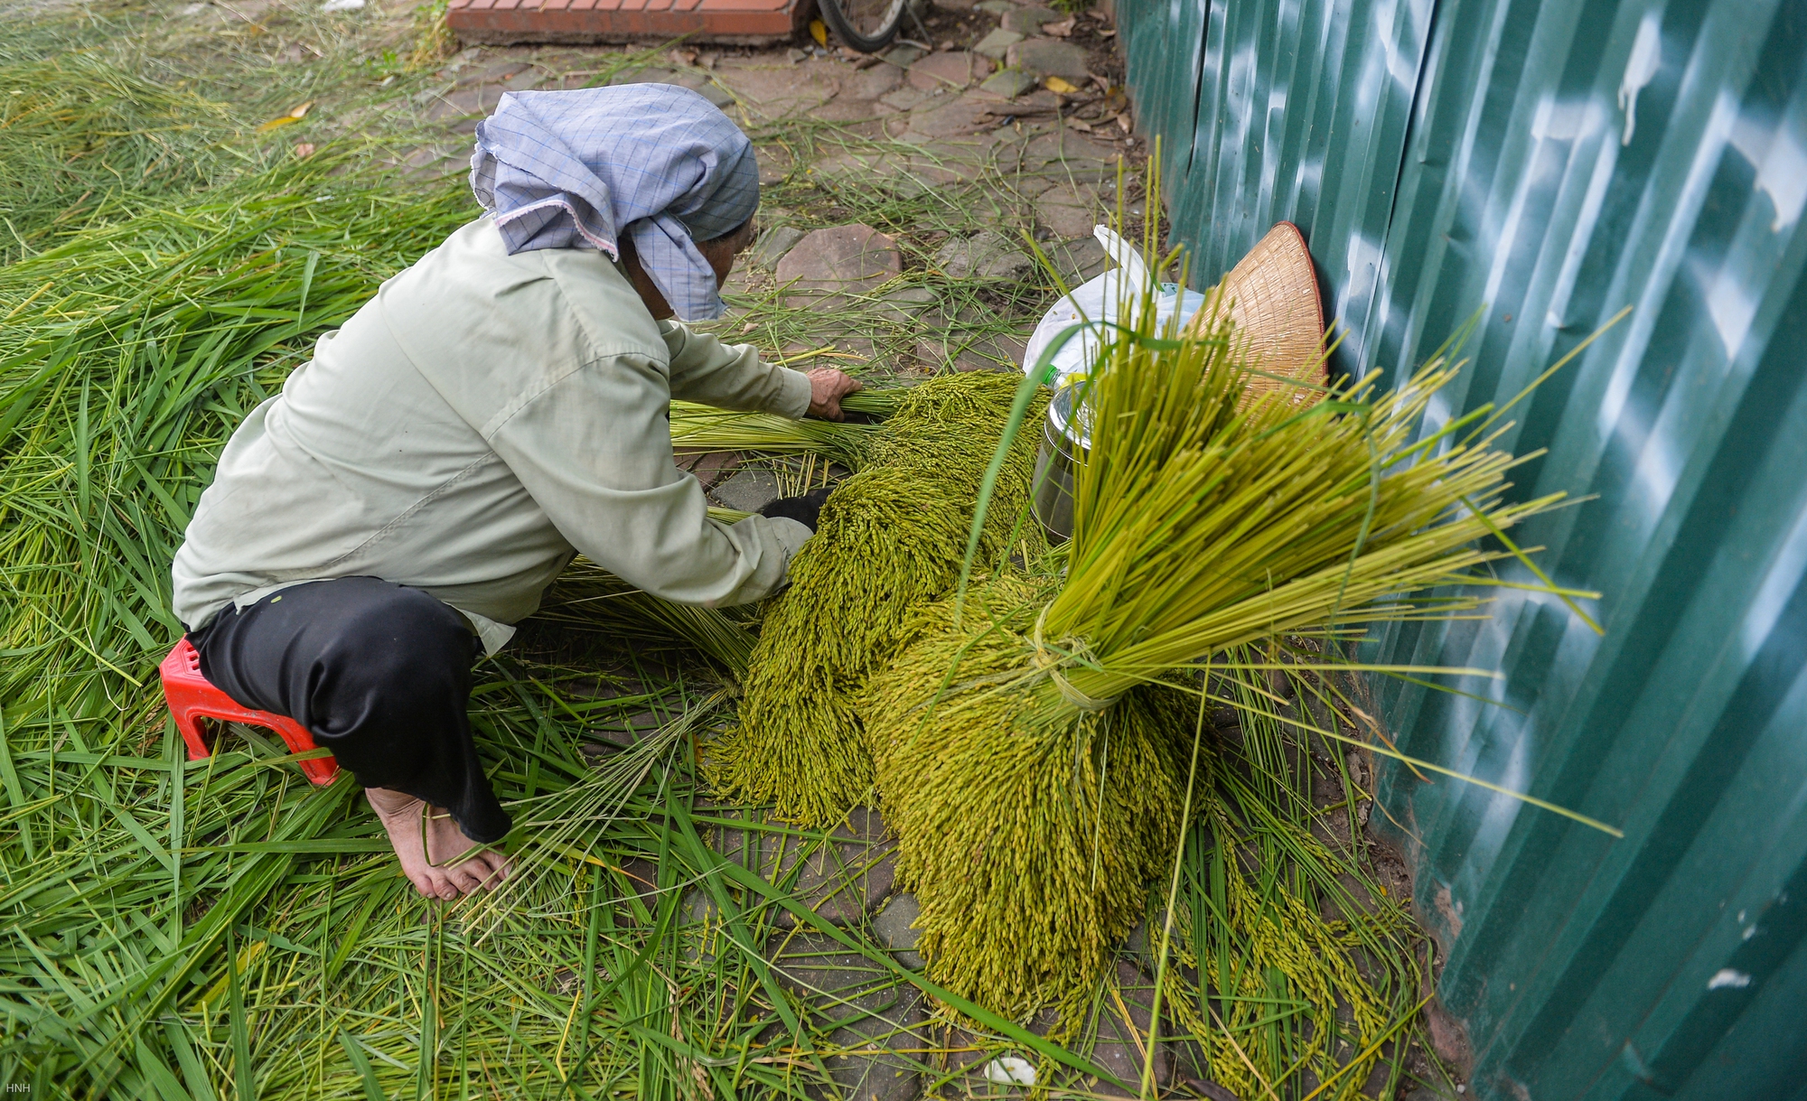
<path fill-rule="evenodd" d="M 1193 724 L 1155 686 L 1261 639 L 1471 610 L 1411 594 L 1482 581 L 1507 552 L 1476 540 L 1558 500 L 1503 502 L 1491 437 L 1411 444 L 1442 359 L 1384 395 L 1238 408 L 1234 334 L 1202 332 L 1144 321 L 1082 383 L 1064 574 L 925 608 L 860 704 L 931 976 L 999 1013 L 1075 1007 L 1173 852 L 1185 780 L 1156 745 Z"/>

